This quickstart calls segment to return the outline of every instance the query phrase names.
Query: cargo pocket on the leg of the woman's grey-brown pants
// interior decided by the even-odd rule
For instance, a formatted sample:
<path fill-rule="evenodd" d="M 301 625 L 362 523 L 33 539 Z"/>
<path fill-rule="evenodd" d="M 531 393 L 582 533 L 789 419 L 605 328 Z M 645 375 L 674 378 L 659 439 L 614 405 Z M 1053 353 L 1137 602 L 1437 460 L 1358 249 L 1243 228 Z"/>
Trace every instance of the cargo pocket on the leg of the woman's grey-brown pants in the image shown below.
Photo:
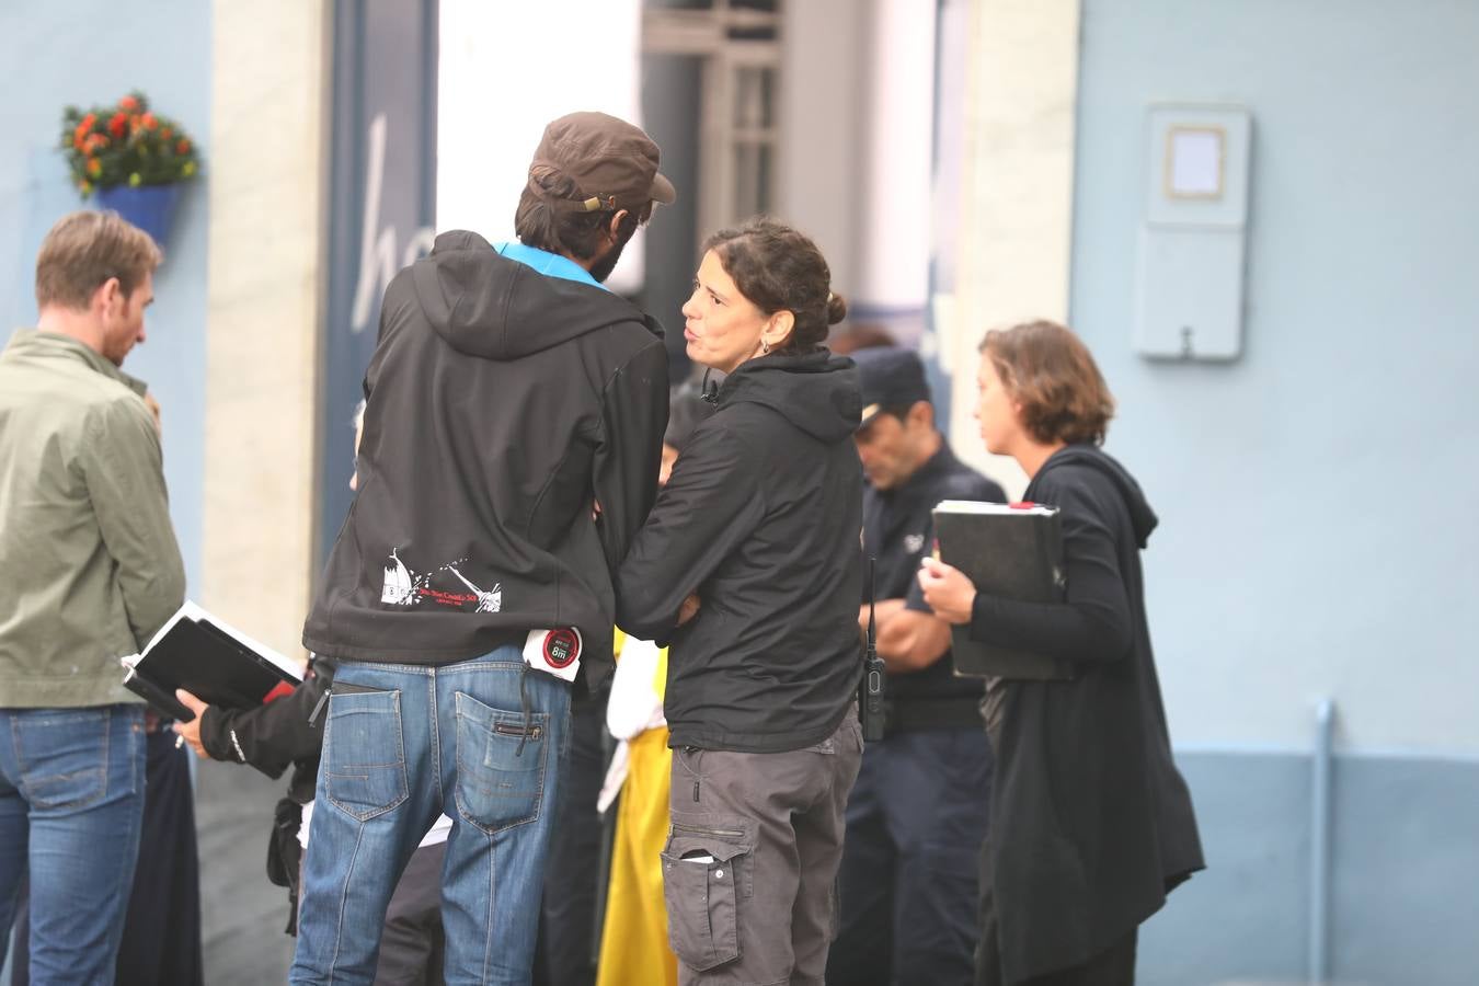
<path fill-rule="evenodd" d="M 695 971 L 740 958 L 740 900 L 753 893 L 754 838 L 744 819 L 674 820 L 663 849 L 673 952 Z"/>

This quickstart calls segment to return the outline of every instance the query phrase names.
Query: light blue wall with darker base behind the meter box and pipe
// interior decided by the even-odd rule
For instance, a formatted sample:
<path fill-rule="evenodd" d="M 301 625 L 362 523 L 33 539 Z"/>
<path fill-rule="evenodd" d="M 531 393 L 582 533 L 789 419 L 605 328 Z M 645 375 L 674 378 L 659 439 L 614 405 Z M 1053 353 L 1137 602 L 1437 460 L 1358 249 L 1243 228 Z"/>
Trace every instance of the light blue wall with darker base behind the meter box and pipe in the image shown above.
<path fill-rule="evenodd" d="M 1306 970 L 1312 701 L 1338 708 L 1331 973 L 1479 977 L 1479 4 L 1084 0 L 1071 321 L 1120 401 L 1210 869 L 1140 982 Z M 1245 347 L 1130 344 L 1146 106 L 1253 115 Z"/>

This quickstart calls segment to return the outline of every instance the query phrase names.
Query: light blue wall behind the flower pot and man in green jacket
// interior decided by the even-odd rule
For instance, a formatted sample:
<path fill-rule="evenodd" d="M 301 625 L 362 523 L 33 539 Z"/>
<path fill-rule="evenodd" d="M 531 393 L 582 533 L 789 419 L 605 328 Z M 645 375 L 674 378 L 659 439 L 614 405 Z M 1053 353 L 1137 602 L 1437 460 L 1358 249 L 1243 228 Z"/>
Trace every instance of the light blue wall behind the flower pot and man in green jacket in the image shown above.
<path fill-rule="evenodd" d="M 210 174 L 210 4 L 109 0 L 0 4 L 0 334 L 35 324 L 35 251 L 81 208 L 62 157 L 62 108 L 142 89 L 201 146 Z M 269 117 L 269 114 L 263 114 Z M 268 130 L 263 124 L 265 132 Z M 155 275 L 148 340 L 124 370 L 163 407 L 164 476 L 191 591 L 200 585 L 206 436 L 206 180 L 186 186 Z"/>

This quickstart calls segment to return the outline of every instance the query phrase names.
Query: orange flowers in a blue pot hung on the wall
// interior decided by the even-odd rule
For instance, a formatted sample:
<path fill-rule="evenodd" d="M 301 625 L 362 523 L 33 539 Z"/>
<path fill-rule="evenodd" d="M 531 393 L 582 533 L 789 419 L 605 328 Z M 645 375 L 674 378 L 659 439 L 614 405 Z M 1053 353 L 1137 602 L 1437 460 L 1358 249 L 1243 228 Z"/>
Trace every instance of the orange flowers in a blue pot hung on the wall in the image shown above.
<path fill-rule="evenodd" d="M 61 149 L 83 198 L 96 194 L 102 208 L 115 210 L 161 244 L 179 203 L 179 183 L 200 170 L 189 135 L 154 114 L 141 92 L 86 112 L 68 106 Z"/>

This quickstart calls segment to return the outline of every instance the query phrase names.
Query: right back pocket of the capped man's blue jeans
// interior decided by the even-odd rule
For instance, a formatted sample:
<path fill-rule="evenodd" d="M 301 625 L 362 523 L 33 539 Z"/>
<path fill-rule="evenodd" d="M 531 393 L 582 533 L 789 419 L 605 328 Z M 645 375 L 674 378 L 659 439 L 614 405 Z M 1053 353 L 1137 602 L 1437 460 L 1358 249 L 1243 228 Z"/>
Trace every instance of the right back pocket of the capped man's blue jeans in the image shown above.
<path fill-rule="evenodd" d="M 457 692 L 457 813 L 484 832 L 540 816 L 549 713 L 510 713 Z"/>

